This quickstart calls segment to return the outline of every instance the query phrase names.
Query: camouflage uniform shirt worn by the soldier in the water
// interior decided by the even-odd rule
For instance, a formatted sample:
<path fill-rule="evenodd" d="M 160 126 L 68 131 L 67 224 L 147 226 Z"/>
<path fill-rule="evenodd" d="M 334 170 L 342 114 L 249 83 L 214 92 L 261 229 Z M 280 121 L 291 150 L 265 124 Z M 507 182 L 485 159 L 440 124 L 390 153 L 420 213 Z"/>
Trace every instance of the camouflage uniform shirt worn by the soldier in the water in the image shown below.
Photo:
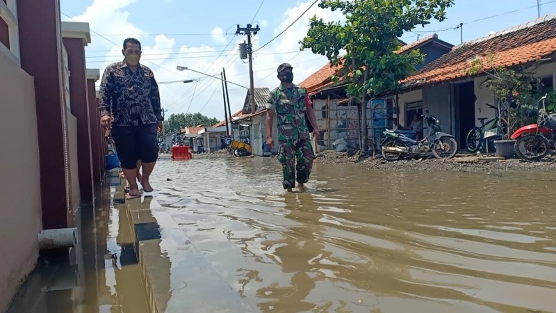
<path fill-rule="evenodd" d="M 270 92 L 266 109 L 275 111 L 278 120 L 278 141 L 308 139 L 305 121 L 306 90 L 293 86 L 279 86 Z"/>

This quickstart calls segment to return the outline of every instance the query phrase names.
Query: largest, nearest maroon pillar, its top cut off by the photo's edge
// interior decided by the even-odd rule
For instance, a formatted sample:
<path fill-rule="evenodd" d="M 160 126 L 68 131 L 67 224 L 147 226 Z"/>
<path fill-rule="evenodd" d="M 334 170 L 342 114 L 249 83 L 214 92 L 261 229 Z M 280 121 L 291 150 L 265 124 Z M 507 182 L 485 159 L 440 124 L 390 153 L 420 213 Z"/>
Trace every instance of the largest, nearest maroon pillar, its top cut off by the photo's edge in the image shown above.
<path fill-rule="evenodd" d="M 60 1 L 19 0 L 17 19 L 22 69 L 35 77 L 42 225 L 44 229 L 72 227 Z"/>

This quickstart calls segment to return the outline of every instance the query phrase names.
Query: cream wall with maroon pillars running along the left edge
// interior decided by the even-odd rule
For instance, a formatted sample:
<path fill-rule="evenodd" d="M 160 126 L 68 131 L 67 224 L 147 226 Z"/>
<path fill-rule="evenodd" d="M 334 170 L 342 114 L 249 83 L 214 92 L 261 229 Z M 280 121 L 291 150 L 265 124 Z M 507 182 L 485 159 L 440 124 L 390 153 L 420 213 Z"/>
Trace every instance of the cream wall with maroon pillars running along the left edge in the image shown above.
<path fill-rule="evenodd" d="M 0 131 L 17 134 L 0 150 L 0 232 L 10 237 L 0 245 L 1 312 L 35 268 L 38 234 L 74 227 L 104 172 L 99 116 L 90 115 L 99 78 L 85 68 L 90 42 L 88 24 L 60 21 L 58 1 L 0 1 Z M 82 283 L 83 260 L 72 258 L 80 242 L 56 253 Z"/>

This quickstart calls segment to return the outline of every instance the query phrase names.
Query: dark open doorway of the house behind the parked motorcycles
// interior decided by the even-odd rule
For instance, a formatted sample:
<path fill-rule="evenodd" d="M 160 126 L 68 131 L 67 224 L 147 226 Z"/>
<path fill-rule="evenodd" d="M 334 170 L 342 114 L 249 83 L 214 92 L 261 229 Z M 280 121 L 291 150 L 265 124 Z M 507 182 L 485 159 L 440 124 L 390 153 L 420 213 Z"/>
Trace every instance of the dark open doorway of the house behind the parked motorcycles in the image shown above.
<path fill-rule="evenodd" d="M 467 147 L 467 134 L 475 127 L 475 82 L 468 81 L 455 86 L 457 99 L 457 113 L 459 122 L 459 146 L 461 149 Z"/>

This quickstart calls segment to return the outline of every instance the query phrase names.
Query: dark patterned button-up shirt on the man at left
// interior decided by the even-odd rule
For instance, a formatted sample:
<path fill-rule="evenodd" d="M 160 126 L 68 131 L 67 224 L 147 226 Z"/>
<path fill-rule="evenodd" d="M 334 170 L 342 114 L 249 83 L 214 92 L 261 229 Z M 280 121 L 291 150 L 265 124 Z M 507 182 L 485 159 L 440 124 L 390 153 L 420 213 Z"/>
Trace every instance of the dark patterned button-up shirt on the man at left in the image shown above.
<path fill-rule="evenodd" d="M 137 126 L 163 120 L 154 74 L 139 65 L 133 72 L 125 61 L 106 67 L 100 83 L 100 114 L 114 115 L 112 125 Z"/>

